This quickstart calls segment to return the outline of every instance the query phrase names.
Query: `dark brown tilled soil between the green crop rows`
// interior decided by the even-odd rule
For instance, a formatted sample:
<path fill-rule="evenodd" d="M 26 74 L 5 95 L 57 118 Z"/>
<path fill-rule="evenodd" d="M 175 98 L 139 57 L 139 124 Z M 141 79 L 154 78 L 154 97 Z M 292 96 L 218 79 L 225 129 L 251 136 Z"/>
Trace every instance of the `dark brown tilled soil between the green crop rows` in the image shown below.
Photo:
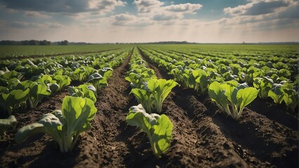
<path fill-rule="evenodd" d="M 67 95 L 60 92 L 15 115 L 18 124 L 6 132 L 11 139 L 0 145 L 0 167 L 298 167 L 298 118 L 286 109 L 258 100 L 236 121 L 221 113 L 208 95 L 182 87 L 175 87 L 164 101 L 162 111 L 173 123 L 173 140 L 169 150 L 155 158 L 146 134 L 125 122 L 128 109 L 138 104 L 124 80 L 129 59 L 114 69 L 109 85 L 98 93 L 91 130 L 71 153 L 60 153 L 44 134 L 22 144 L 13 141 L 20 127 L 60 109 Z M 159 78 L 171 78 L 144 59 Z"/>

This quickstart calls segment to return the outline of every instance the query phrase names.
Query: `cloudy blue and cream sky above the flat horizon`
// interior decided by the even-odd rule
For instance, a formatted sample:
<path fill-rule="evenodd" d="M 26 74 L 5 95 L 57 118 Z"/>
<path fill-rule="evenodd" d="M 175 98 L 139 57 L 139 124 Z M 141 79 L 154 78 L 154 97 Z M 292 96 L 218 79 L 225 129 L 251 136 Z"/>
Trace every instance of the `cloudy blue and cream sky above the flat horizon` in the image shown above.
<path fill-rule="evenodd" d="M 298 0 L 0 0 L 0 40 L 299 41 Z"/>

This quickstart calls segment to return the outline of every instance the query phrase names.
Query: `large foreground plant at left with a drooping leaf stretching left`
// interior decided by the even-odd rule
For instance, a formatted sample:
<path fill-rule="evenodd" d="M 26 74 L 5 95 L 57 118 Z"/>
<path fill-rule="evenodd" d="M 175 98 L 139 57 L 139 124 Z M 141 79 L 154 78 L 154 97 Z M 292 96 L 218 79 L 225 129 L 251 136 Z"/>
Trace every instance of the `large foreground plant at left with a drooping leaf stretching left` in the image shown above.
<path fill-rule="evenodd" d="M 88 98 L 65 97 L 62 111 L 47 113 L 37 123 L 22 127 L 15 134 L 15 141 L 20 144 L 34 134 L 45 133 L 56 141 L 60 152 L 72 151 L 81 133 L 90 129 L 97 109 Z"/>

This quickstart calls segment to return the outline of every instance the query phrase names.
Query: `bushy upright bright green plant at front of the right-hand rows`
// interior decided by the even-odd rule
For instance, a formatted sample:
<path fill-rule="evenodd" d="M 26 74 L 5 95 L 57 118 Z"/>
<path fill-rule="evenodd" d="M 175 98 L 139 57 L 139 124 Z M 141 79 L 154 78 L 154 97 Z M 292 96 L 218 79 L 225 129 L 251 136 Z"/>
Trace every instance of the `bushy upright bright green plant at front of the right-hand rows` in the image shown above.
<path fill-rule="evenodd" d="M 223 84 L 215 81 L 208 87 L 208 94 L 221 111 L 238 120 L 245 106 L 258 97 L 258 90 L 248 87 L 246 83 L 239 84 L 235 80 Z M 232 111 L 230 111 L 229 105 L 231 105 Z"/>

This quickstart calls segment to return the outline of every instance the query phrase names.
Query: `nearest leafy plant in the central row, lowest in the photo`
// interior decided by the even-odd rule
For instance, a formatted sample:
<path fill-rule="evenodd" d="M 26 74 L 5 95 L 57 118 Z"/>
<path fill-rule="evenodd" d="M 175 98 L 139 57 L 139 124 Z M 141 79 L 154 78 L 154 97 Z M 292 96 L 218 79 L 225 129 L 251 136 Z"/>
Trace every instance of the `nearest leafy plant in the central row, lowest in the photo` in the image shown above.
<path fill-rule="evenodd" d="M 129 109 L 126 123 L 140 127 L 142 132 L 147 134 L 152 151 L 157 158 L 161 158 L 171 145 L 173 123 L 164 114 L 161 116 L 156 113 L 148 114 L 142 105 L 138 104 Z"/>

